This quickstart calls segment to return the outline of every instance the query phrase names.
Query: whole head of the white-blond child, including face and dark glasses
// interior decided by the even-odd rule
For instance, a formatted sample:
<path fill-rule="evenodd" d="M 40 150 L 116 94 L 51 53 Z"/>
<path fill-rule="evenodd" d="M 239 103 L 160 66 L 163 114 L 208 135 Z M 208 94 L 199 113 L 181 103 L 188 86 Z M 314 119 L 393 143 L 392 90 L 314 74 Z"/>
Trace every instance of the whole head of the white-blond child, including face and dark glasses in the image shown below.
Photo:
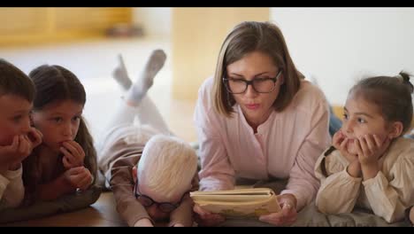
<path fill-rule="evenodd" d="M 183 140 L 157 135 L 145 144 L 137 168 L 135 196 L 145 195 L 138 199 L 153 219 L 160 220 L 169 217 L 190 191 L 196 175 L 197 156 Z M 149 198 L 161 204 L 151 205 Z"/>

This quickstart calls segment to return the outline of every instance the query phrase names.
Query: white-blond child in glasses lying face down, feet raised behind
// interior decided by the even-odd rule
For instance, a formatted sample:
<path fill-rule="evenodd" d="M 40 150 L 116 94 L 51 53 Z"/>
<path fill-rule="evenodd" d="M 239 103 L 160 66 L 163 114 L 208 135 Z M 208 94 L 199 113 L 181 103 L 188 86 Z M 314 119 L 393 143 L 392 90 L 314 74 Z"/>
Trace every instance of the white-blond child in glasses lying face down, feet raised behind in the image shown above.
<path fill-rule="evenodd" d="M 114 78 L 126 97 L 98 146 L 105 186 L 129 226 L 193 225 L 188 193 L 198 189 L 196 152 L 171 134 L 147 96 L 165 58 L 164 51 L 153 51 L 134 84 L 121 60 Z"/>

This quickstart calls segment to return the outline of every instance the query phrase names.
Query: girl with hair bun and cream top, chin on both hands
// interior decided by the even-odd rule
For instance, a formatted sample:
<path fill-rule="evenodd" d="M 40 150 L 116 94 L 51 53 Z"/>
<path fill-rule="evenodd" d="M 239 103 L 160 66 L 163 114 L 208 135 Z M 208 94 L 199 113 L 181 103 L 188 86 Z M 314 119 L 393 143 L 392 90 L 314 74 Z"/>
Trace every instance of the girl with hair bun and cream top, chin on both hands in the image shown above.
<path fill-rule="evenodd" d="M 414 204 L 414 140 L 402 137 L 412 120 L 410 76 L 364 79 L 349 91 L 334 146 L 317 161 L 316 205 L 325 214 L 372 210 L 398 222 Z"/>

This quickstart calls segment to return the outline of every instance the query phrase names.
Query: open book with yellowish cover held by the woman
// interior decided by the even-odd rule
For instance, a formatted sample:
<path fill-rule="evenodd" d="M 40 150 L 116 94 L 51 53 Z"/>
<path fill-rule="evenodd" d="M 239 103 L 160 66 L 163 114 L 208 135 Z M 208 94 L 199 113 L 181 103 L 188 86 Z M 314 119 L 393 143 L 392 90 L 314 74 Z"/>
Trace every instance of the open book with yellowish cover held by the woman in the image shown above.
<path fill-rule="evenodd" d="M 190 197 L 203 209 L 228 217 L 258 217 L 280 211 L 274 191 L 268 188 L 193 191 Z"/>

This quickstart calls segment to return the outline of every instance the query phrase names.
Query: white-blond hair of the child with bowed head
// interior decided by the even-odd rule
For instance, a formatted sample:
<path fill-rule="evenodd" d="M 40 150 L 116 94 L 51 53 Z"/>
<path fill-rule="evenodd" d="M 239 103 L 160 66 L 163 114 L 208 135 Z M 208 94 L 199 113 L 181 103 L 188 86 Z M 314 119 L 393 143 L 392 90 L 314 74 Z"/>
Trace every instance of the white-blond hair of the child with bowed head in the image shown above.
<path fill-rule="evenodd" d="M 175 136 L 152 136 L 138 162 L 139 183 L 149 190 L 172 199 L 188 191 L 196 175 L 196 151 Z"/>

